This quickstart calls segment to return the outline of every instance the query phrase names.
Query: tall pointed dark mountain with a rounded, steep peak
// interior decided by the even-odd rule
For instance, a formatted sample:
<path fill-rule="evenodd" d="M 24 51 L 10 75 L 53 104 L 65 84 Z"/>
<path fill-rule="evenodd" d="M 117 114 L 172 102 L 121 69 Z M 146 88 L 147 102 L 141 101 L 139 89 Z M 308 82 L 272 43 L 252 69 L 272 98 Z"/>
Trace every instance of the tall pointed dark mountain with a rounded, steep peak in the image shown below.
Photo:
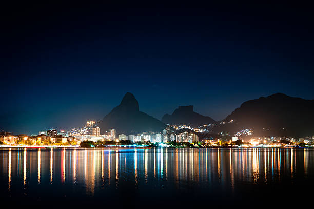
<path fill-rule="evenodd" d="M 114 107 L 98 124 L 101 132 L 116 129 L 119 134 L 138 134 L 140 132 L 161 132 L 166 125 L 140 111 L 139 103 L 132 93 L 127 92 L 119 106 Z"/>

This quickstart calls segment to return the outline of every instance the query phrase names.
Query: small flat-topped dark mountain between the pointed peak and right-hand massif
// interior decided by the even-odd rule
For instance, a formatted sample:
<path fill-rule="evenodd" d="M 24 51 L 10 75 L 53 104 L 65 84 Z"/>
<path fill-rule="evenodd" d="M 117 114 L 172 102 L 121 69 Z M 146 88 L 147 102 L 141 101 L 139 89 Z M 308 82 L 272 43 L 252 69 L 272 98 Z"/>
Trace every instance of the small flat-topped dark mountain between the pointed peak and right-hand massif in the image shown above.
<path fill-rule="evenodd" d="M 162 122 L 170 125 L 189 125 L 191 127 L 199 127 L 204 124 L 212 124 L 216 121 L 208 116 L 202 116 L 193 111 L 193 106 L 179 106 L 172 115 L 166 114 L 162 118 Z"/>

